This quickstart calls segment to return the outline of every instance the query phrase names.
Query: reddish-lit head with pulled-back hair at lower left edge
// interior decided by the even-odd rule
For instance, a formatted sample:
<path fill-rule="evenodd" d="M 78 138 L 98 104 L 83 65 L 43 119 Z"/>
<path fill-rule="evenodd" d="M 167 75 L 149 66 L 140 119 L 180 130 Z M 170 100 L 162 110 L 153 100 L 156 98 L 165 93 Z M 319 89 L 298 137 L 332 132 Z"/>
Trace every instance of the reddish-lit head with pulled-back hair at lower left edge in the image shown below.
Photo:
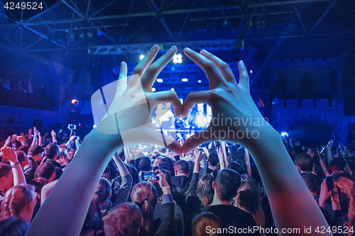
<path fill-rule="evenodd" d="M 37 203 L 38 194 L 35 187 L 29 184 L 19 184 L 6 191 L 1 202 L 1 217 L 17 216 L 31 223 L 33 209 Z"/>

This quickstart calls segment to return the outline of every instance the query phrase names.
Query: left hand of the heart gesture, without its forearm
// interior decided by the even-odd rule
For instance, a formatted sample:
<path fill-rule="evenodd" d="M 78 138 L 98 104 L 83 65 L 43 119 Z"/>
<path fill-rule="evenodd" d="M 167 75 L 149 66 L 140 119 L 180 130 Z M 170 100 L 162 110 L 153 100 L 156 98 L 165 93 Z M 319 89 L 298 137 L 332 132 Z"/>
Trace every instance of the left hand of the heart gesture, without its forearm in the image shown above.
<path fill-rule="evenodd" d="M 171 47 L 165 55 L 151 64 L 159 51 L 158 45 L 154 45 L 133 69 L 133 75 L 128 84 L 126 83 L 127 66 L 122 62 L 119 80 L 114 86 L 116 92 L 110 94 L 109 90 L 112 84 L 102 88 L 109 109 L 107 113 L 105 111 L 106 115 L 97 126 L 99 133 L 119 133 L 126 147 L 141 143 L 156 144 L 181 154 L 179 142 L 173 137 L 158 133 L 151 122 L 151 111 L 159 103 L 170 103 L 174 108 L 175 116 L 180 116 L 182 104 L 175 91 L 152 92 L 156 77 L 173 59 L 177 50 L 177 47 Z M 92 96 L 93 111 L 97 107 L 95 104 L 99 104 L 101 101 L 102 95 L 99 91 Z M 98 109 L 100 108 L 104 108 L 104 106 Z"/>

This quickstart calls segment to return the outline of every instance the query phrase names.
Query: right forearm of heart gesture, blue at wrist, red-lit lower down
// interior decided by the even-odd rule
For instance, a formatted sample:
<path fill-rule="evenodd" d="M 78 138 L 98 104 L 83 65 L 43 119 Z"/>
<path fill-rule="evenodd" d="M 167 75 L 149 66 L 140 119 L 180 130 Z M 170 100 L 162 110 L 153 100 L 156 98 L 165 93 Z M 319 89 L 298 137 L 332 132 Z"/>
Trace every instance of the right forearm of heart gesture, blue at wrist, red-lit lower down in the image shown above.
<path fill-rule="evenodd" d="M 276 227 L 327 227 L 320 208 L 297 172 L 278 132 L 271 126 L 262 127 L 258 132 L 259 137 L 249 140 L 244 147 L 256 162 Z"/>

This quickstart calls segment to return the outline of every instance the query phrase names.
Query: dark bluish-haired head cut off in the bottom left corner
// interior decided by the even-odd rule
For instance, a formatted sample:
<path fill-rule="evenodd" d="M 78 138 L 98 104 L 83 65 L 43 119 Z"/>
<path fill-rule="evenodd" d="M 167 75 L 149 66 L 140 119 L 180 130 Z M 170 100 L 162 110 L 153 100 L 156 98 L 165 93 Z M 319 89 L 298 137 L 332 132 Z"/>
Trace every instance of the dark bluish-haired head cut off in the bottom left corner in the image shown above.
<path fill-rule="evenodd" d="M 1 236 L 24 236 L 30 224 L 27 220 L 18 217 L 7 218 L 0 221 Z"/>

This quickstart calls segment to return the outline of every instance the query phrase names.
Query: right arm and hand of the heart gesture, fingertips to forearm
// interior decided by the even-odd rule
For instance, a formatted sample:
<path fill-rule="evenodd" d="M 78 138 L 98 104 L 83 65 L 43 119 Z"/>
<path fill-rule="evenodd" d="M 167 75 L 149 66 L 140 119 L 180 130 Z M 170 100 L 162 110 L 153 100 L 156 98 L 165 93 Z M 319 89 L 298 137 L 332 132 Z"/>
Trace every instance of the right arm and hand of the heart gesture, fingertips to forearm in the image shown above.
<path fill-rule="evenodd" d="M 182 150 L 189 152 L 197 145 L 214 140 L 240 143 L 249 150 L 258 167 L 276 227 L 299 228 L 300 235 L 309 235 L 305 234 L 305 227 L 327 228 L 327 221 L 285 150 L 280 134 L 261 116 L 251 99 L 244 62 L 238 63 L 237 83 L 229 65 L 211 53 L 185 48 L 185 55 L 204 70 L 210 89 L 190 93 L 182 116 L 187 116 L 195 103 L 207 103 L 212 107 L 212 122 L 202 133 L 187 139 Z"/>

